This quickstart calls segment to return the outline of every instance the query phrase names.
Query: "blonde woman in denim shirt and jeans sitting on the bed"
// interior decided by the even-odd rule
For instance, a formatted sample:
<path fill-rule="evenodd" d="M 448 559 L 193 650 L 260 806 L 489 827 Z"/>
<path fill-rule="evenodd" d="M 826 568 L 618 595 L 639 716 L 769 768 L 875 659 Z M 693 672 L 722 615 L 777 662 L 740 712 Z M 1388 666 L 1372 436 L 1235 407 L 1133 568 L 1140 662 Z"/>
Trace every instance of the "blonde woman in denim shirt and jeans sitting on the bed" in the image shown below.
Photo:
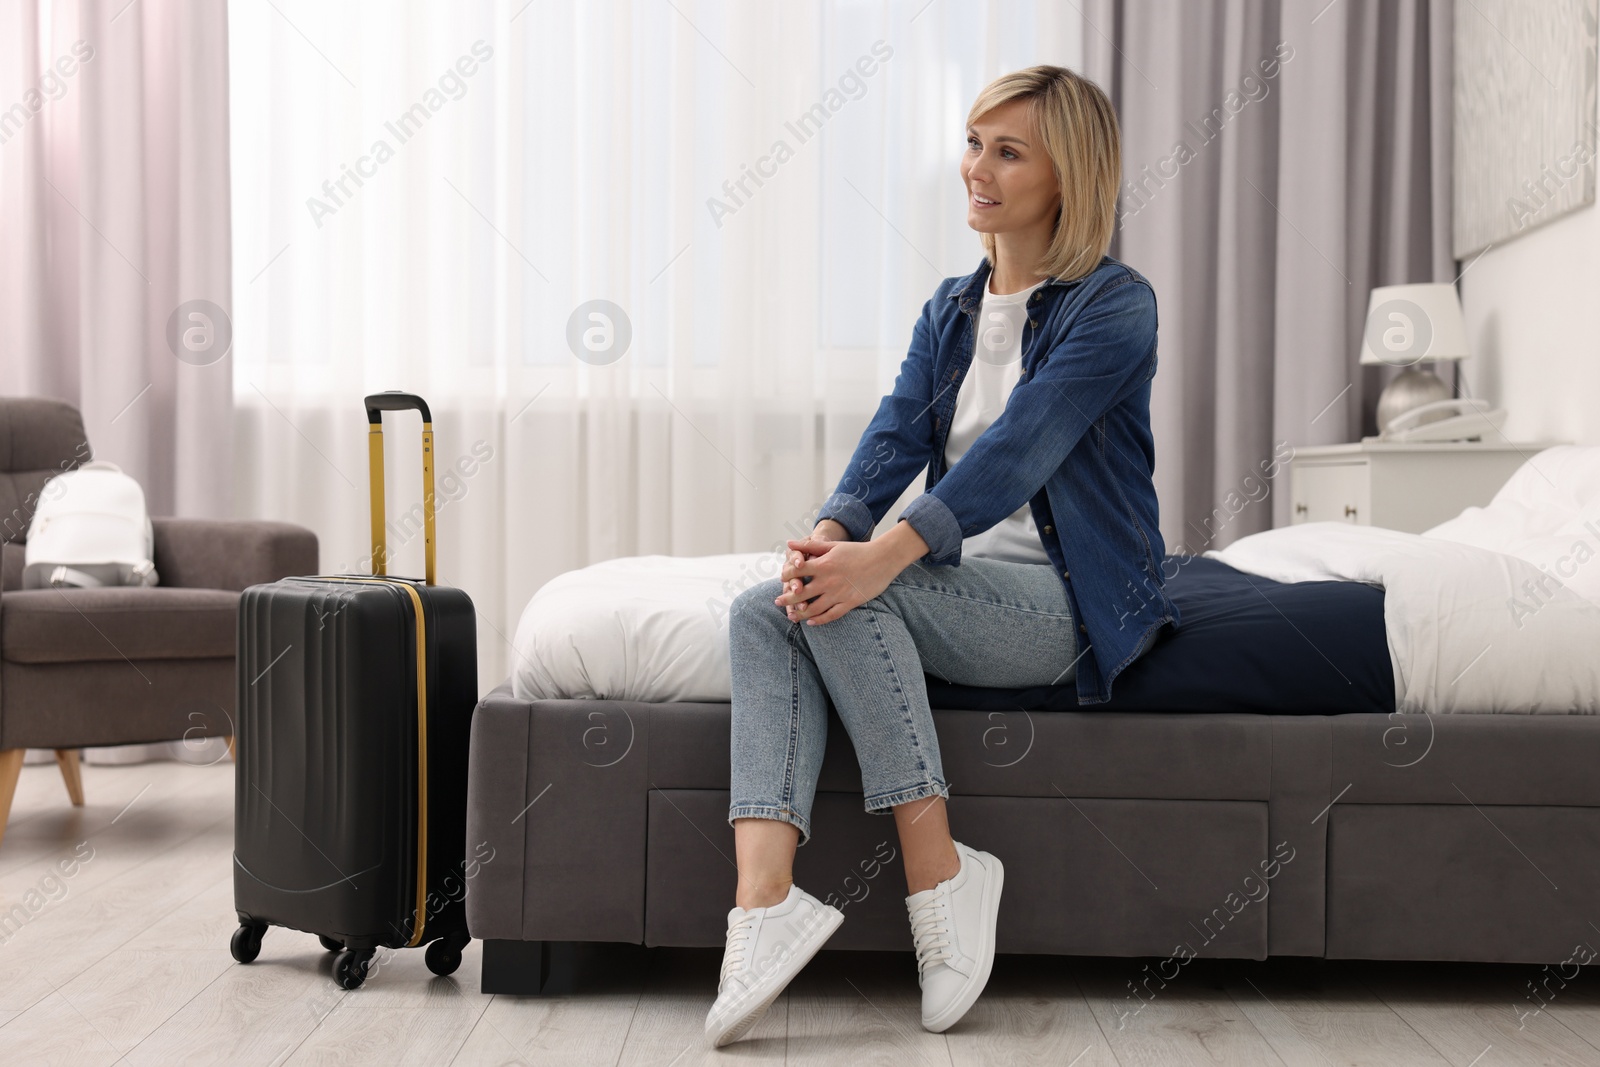
<path fill-rule="evenodd" d="M 739 880 L 706 1017 L 717 1045 L 742 1037 L 843 920 L 792 877 L 830 699 L 867 811 L 894 813 L 922 1022 L 941 1032 L 989 981 L 1003 869 L 950 838 L 923 672 L 1070 683 L 1098 704 L 1178 624 L 1150 482 L 1155 293 L 1106 256 L 1120 152 L 1106 94 L 1064 67 L 979 93 L 962 181 L 984 259 L 923 304 L 811 536 L 731 606 Z M 872 537 L 923 466 L 926 491 Z"/>

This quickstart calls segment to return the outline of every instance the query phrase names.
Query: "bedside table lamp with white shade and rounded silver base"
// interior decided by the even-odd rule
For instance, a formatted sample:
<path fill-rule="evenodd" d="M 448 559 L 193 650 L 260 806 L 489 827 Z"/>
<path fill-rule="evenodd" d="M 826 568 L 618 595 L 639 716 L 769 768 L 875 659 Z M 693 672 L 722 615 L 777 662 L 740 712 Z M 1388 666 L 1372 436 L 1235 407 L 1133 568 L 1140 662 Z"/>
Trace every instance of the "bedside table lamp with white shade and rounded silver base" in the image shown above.
<path fill-rule="evenodd" d="M 1432 371 L 1418 363 L 1437 360 L 1464 360 L 1467 350 L 1467 325 L 1461 318 L 1461 298 L 1456 286 L 1381 285 L 1366 301 L 1366 330 L 1362 331 L 1362 365 L 1389 365 L 1406 368 L 1390 381 L 1378 397 L 1378 432 L 1400 414 L 1435 400 L 1450 400 L 1451 389 Z M 1429 413 L 1421 422 L 1450 418 L 1450 413 Z"/>

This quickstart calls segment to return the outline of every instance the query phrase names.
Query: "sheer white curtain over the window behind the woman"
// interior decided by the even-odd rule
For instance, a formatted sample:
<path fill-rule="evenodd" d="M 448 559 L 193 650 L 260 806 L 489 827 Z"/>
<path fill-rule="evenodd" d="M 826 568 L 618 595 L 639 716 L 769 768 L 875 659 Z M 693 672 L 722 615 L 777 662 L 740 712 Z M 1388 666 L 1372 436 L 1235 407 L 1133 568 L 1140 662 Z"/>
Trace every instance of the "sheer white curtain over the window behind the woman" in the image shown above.
<path fill-rule="evenodd" d="M 1070 5 L 998 0 L 234 0 L 230 29 L 237 507 L 365 566 L 360 398 L 422 394 L 483 688 L 563 571 L 810 530 L 982 256 L 973 96 L 1082 53 Z"/>

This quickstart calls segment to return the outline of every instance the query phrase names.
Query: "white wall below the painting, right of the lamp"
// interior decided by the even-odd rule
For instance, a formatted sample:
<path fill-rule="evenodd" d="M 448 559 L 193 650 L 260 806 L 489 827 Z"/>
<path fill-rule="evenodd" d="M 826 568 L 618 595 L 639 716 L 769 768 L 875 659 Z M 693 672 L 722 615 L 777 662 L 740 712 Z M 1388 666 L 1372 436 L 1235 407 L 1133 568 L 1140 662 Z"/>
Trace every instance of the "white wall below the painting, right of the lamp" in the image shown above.
<path fill-rule="evenodd" d="M 1600 445 L 1600 211 L 1563 214 L 1462 267 L 1467 392 L 1506 408 L 1512 442 Z"/>

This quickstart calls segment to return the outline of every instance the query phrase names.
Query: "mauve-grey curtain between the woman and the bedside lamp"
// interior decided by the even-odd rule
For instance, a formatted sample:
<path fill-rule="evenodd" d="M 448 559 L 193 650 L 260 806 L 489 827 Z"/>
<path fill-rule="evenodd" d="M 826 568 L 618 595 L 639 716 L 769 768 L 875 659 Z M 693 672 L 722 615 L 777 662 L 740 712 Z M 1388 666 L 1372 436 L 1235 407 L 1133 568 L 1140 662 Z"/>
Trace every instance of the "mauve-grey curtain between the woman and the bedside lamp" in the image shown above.
<path fill-rule="evenodd" d="M 1450 0 L 1086 0 L 1112 254 L 1155 286 L 1168 550 L 1286 523 L 1294 448 L 1376 432 L 1373 286 L 1450 282 Z M 1274 478 L 1274 475 L 1277 475 Z"/>

